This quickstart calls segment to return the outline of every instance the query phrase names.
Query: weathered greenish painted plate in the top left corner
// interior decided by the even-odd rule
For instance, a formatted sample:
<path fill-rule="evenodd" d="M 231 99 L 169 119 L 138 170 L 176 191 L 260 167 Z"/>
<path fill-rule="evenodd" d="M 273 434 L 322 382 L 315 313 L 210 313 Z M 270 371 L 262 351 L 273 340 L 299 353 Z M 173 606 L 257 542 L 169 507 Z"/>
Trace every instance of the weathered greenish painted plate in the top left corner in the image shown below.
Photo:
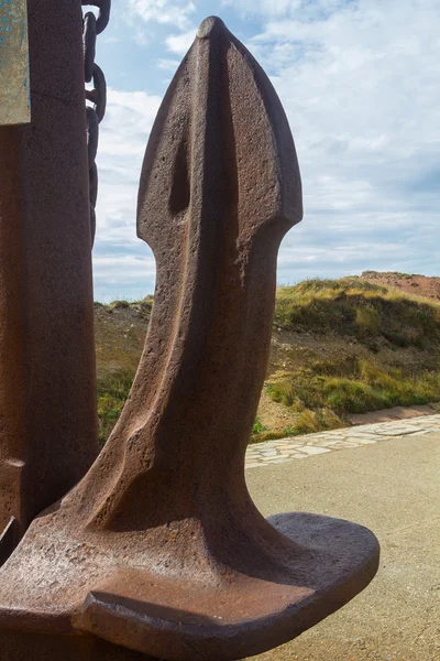
<path fill-rule="evenodd" d="M 31 121 L 26 0 L 0 0 L 0 126 Z"/>

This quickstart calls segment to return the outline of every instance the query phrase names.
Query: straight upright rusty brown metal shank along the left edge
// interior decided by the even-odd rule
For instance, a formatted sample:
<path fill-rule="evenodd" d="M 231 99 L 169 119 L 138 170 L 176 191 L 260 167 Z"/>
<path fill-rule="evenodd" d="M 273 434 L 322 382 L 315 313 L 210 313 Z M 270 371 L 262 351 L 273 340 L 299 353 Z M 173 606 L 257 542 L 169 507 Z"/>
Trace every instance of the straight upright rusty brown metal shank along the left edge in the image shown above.
<path fill-rule="evenodd" d="M 32 122 L 0 127 L 0 534 L 14 517 L 14 544 L 98 454 L 81 7 L 28 12 Z"/>

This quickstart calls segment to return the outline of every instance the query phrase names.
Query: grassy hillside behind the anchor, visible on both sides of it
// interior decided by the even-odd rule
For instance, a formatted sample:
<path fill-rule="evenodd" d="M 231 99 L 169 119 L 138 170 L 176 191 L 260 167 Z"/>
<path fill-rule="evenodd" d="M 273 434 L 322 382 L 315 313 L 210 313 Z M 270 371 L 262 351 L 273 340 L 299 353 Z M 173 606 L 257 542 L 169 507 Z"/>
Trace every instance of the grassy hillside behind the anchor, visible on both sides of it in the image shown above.
<path fill-rule="evenodd" d="M 426 297 L 408 293 L 416 288 L 396 273 L 278 288 L 252 440 L 346 426 L 353 413 L 440 400 L 440 303 L 430 280 L 440 279 L 419 282 Z M 101 442 L 130 390 L 152 305 L 152 296 L 96 304 Z"/>

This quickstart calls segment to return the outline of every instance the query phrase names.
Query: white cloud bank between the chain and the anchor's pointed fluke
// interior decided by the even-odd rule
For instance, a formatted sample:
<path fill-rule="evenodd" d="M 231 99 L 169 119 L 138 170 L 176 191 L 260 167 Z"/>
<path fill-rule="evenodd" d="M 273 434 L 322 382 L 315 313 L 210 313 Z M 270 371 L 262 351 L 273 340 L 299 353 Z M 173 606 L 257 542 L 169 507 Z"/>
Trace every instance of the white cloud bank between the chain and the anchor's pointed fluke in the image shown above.
<path fill-rule="evenodd" d="M 98 300 L 111 297 L 111 291 L 140 296 L 154 288 L 154 259 L 136 237 L 135 219 L 142 161 L 161 100 L 145 91 L 108 88 L 97 158 L 94 271 Z"/>

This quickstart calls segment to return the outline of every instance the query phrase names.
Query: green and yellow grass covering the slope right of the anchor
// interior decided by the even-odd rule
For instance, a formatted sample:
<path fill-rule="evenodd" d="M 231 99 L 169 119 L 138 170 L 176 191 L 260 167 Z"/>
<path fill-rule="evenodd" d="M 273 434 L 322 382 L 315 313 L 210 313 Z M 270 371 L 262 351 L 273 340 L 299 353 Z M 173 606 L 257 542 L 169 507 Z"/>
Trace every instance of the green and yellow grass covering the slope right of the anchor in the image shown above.
<path fill-rule="evenodd" d="M 290 355 L 287 368 L 270 375 L 270 397 L 297 413 L 295 434 L 346 425 L 353 413 L 440 399 L 437 302 L 359 279 L 310 280 L 278 288 L 275 323 L 331 348 L 326 359 L 309 350 L 297 366 Z"/>

